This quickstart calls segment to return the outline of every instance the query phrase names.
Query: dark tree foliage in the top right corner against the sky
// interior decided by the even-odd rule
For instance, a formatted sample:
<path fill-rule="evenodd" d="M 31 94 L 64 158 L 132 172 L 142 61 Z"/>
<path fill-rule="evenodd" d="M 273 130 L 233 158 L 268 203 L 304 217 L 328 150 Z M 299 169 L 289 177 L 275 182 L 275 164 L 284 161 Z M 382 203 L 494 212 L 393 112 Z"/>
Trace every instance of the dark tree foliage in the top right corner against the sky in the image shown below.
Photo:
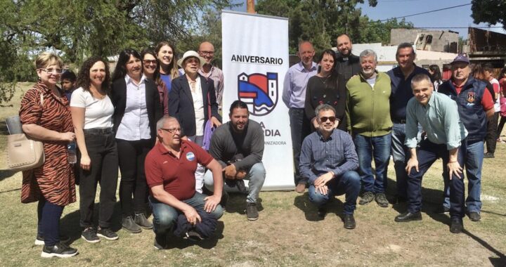
<path fill-rule="evenodd" d="M 473 22 L 486 22 L 489 25 L 502 24 L 506 30 L 505 0 L 472 0 L 471 11 Z"/>

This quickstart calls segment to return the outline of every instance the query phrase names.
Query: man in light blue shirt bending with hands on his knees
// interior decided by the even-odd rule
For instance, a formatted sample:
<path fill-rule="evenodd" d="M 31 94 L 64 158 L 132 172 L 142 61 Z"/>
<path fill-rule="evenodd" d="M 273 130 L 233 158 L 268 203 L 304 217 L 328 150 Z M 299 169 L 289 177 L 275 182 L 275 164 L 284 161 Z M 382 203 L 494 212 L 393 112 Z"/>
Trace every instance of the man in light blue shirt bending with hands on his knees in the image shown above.
<path fill-rule="evenodd" d="M 464 166 L 467 131 L 460 121 L 455 101 L 441 93 L 434 92 L 427 74 L 417 74 L 411 80 L 414 98 L 406 110 L 406 146 L 410 149 L 408 160 L 408 211 L 396 216 L 395 221 L 420 221 L 422 214 L 422 177 L 438 158 L 443 159 L 450 176 L 450 232 L 460 233 L 464 228 Z M 420 142 L 417 150 L 417 124 L 427 137 Z"/>

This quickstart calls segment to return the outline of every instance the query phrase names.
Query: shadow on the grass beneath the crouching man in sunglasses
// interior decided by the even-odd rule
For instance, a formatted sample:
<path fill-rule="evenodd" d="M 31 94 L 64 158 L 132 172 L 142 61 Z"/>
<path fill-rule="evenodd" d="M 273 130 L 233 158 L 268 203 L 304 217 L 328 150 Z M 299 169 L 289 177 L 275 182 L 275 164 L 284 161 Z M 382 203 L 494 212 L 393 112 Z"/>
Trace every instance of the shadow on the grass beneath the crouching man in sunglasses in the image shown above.
<path fill-rule="evenodd" d="M 323 221 L 324 219 L 318 216 L 318 208 L 311 203 L 307 192 L 294 198 L 294 206 L 304 211 L 304 216 L 308 221 Z M 323 207 L 327 209 L 327 216 L 333 213 L 342 219 L 343 202 L 341 200 L 332 197 Z"/>

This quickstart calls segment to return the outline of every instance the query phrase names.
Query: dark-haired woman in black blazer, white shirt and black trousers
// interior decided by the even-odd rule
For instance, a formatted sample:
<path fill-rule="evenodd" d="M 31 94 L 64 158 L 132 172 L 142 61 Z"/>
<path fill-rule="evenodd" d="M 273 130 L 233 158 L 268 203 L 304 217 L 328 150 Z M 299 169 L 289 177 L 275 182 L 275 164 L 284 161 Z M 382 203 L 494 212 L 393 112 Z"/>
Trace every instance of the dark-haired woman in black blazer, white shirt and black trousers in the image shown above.
<path fill-rule="evenodd" d="M 141 227 L 153 224 L 145 218 L 148 185 L 145 181 L 144 160 L 156 139 L 156 123 L 162 117 L 160 96 L 153 81 L 142 74 L 141 55 L 133 49 L 119 53 L 112 74 L 111 100 L 119 155 L 119 202 L 122 227 L 131 233 L 141 233 Z"/>

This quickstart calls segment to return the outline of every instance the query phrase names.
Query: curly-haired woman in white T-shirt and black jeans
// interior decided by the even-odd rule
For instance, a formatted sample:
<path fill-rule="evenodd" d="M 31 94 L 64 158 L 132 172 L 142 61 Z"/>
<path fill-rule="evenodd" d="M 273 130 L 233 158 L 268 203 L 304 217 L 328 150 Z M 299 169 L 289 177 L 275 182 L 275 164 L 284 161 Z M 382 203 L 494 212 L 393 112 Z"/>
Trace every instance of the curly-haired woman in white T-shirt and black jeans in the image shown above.
<path fill-rule="evenodd" d="M 117 240 L 110 230 L 118 174 L 118 154 L 112 131 L 114 107 L 108 96 L 110 73 L 106 61 L 98 57 L 84 61 L 76 89 L 70 100 L 70 111 L 81 152 L 79 161 L 79 224 L 84 228 L 81 237 L 86 242 L 100 242 L 98 237 Z M 93 226 L 93 204 L 96 185 L 100 183 L 98 228 Z"/>

